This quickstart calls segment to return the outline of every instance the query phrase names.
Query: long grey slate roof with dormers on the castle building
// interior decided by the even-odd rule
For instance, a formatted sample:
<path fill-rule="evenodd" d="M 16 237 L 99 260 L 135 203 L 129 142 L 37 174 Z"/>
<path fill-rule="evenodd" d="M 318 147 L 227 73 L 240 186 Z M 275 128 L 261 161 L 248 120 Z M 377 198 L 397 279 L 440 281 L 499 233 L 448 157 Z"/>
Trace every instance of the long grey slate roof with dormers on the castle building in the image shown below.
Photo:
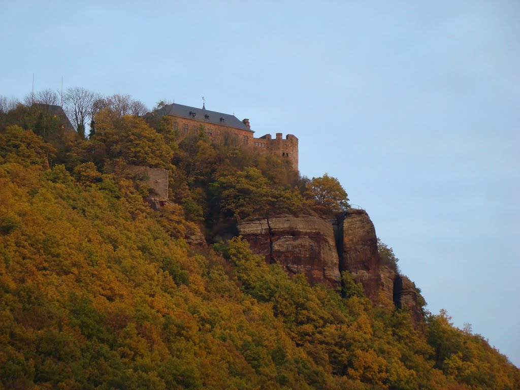
<path fill-rule="evenodd" d="M 194 113 L 195 116 L 192 116 L 191 113 Z M 178 105 L 177 103 L 173 103 L 171 105 L 166 105 L 163 108 L 155 111 L 154 113 L 158 113 L 159 115 L 172 115 L 178 116 L 180 118 L 186 119 L 194 119 L 200 122 L 212 123 L 215 125 L 228 126 L 240 128 L 242 130 L 254 133 L 248 126 L 246 126 L 240 119 L 238 119 L 235 115 L 224 114 L 222 112 L 210 111 L 205 108 L 197 108 L 197 107 L 189 107 Z M 206 117 L 207 115 L 207 117 Z M 221 121 L 220 119 L 223 119 Z"/>

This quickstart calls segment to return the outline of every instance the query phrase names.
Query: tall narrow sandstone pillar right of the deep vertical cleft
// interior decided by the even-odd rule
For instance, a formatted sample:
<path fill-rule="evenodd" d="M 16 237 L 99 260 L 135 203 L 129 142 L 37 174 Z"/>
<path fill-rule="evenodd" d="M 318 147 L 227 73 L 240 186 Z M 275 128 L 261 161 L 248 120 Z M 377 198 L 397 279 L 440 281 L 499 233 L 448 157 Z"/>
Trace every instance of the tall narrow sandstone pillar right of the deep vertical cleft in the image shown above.
<path fill-rule="evenodd" d="M 337 218 L 335 228 L 340 271 L 349 271 L 370 300 L 377 302 L 381 274 L 374 224 L 366 211 L 350 209 Z"/>

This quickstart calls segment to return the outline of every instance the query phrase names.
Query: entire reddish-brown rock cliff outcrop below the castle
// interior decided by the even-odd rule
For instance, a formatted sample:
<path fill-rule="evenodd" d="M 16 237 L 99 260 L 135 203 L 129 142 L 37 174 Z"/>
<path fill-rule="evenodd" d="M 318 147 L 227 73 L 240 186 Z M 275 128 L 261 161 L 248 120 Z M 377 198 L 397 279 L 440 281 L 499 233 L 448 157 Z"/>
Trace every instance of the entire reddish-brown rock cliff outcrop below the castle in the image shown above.
<path fill-rule="evenodd" d="M 311 284 L 339 287 L 340 272 L 348 271 L 374 304 L 382 292 L 397 308 L 410 310 L 415 323 L 422 318 L 422 297 L 413 282 L 381 264 L 375 228 L 364 210 L 349 209 L 332 220 L 282 214 L 237 228 L 254 253 L 292 274 L 304 274 Z"/>

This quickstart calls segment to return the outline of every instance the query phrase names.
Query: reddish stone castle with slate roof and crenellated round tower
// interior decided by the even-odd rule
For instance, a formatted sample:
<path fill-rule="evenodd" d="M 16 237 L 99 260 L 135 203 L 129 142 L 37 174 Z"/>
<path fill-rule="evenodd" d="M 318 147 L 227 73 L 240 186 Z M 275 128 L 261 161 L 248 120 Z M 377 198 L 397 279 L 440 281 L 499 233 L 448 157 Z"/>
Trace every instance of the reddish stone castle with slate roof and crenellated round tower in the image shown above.
<path fill-rule="evenodd" d="M 277 155 L 281 159 L 289 160 L 291 165 L 298 169 L 298 138 L 292 134 L 285 138 L 282 138 L 282 133 L 277 133 L 274 139 L 270 134 L 256 138 L 249 119 L 241 121 L 235 115 L 206 110 L 205 105 L 196 108 L 173 103 L 148 115 L 170 116 L 173 128 L 180 139 L 191 132 L 198 134 L 202 129 L 214 142 L 225 142 L 226 138 L 234 138 L 244 148 Z"/>

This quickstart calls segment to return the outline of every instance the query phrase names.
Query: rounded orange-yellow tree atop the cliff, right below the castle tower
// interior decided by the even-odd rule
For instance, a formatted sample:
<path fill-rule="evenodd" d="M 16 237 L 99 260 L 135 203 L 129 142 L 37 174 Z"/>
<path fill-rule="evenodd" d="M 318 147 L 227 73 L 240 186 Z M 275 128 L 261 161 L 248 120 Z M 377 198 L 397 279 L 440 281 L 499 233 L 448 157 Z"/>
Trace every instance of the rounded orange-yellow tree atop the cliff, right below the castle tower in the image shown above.
<path fill-rule="evenodd" d="M 332 216 L 349 207 L 347 193 L 339 180 L 327 173 L 313 177 L 306 188 L 305 197 L 314 201 L 314 211 L 322 216 Z"/>

